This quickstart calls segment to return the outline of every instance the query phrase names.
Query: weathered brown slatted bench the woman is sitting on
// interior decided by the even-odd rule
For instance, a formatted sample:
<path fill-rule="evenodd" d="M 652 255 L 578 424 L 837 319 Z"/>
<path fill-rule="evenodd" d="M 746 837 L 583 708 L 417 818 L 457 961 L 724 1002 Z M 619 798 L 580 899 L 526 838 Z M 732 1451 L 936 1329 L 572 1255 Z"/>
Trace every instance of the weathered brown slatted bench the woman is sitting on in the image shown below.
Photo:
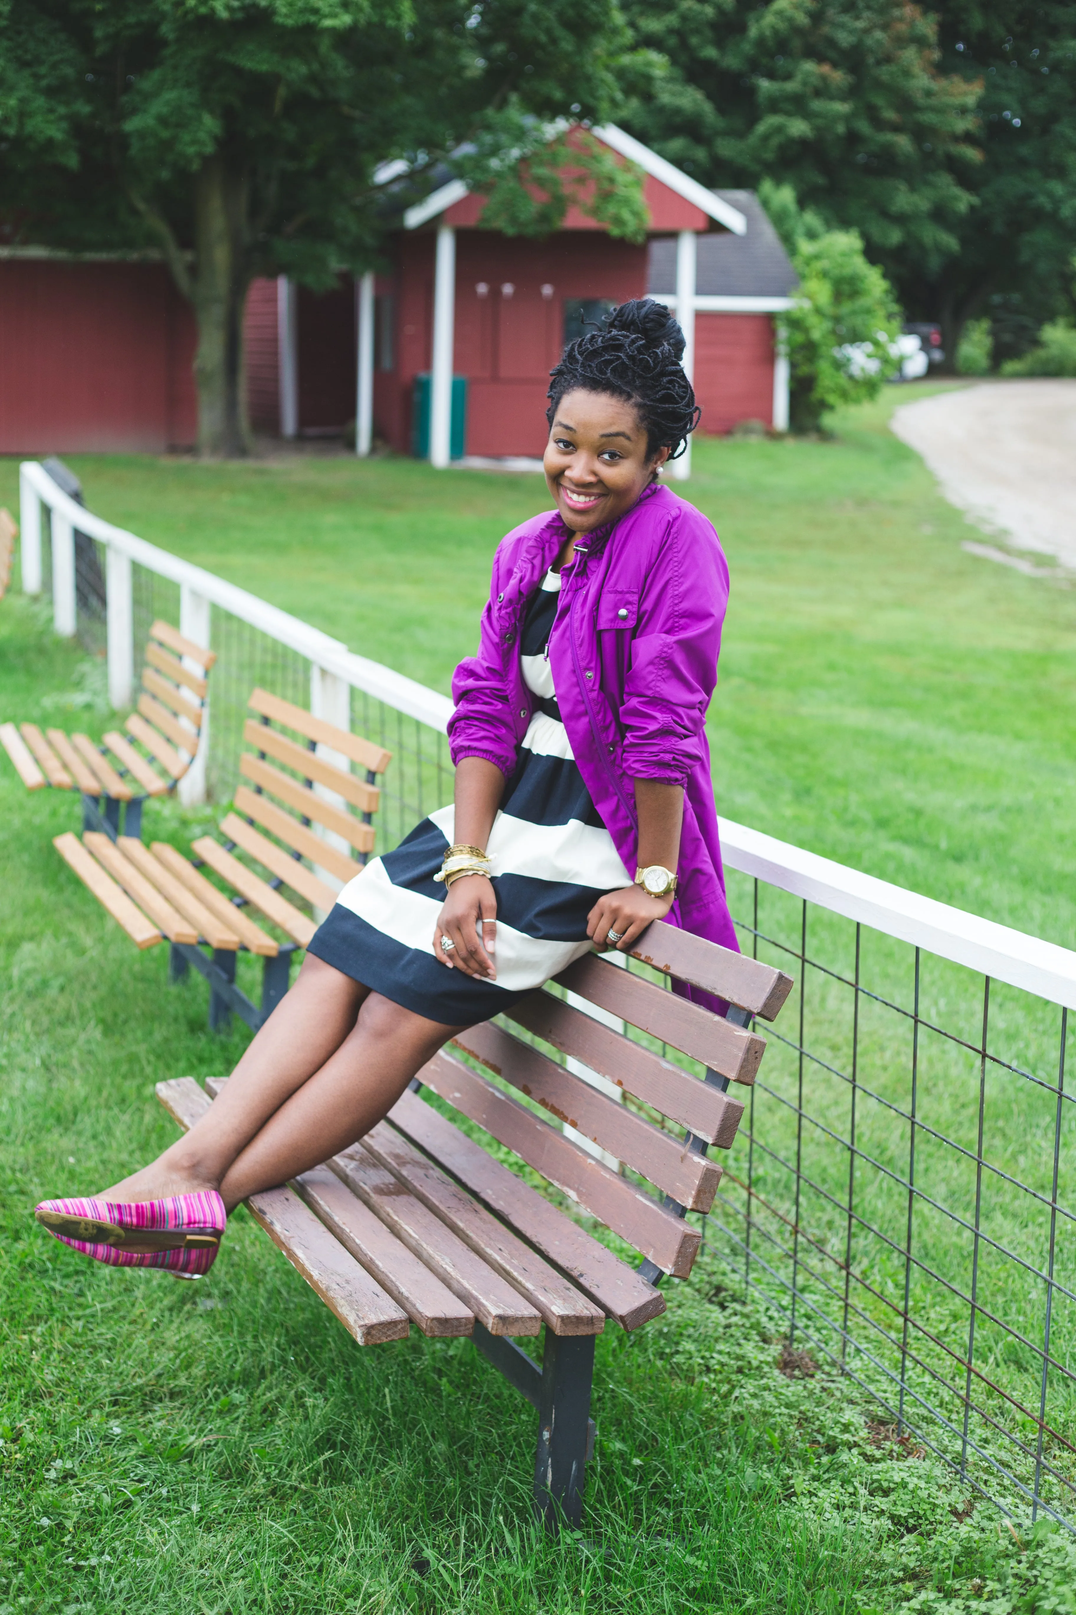
<path fill-rule="evenodd" d="M 665 1311 L 660 1282 L 687 1277 L 765 1042 L 792 980 L 755 959 L 653 924 L 636 958 L 731 1000 L 726 1017 L 590 954 L 558 977 L 584 1001 L 687 1055 L 705 1077 L 594 1019 L 557 992 L 521 1000 L 507 1024 L 486 1022 L 442 1050 L 365 1139 L 295 1184 L 253 1195 L 248 1210 L 360 1345 L 468 1334 L 539 1410 L 534 1499 L 552 1528 L 578 1525 L 594 1454 L 594 1340 L 611 1318 L 637 1329 Z M 523 1034 L 523 1037 L 519 1035 Z M 539 1038 L 544 1048 L 524 1037 Z M 619 1105 L 555 1058 L 574 1056 L 611 1079 Z M 492 1072 L 490 1080 L 478 1066 Z M 194 1077 L 161 1082 L 158 1098 L 190 1127 L 219 1093 Z M 644 1258 L 623 1261 L 565 1210 L 523 1182 L 429 1105 L 423 1089 L 534 1168 L 561 1198 L 603 1223 Z M 524 1103 L 516 1095 L 524 1095 Z M 661 1126 L 661 1121 L 665 1126 Z M 561 1130 L 616 1155 L 624 1174 Z M 513 1336 L 545 1324 L 542 1363 Z"/>

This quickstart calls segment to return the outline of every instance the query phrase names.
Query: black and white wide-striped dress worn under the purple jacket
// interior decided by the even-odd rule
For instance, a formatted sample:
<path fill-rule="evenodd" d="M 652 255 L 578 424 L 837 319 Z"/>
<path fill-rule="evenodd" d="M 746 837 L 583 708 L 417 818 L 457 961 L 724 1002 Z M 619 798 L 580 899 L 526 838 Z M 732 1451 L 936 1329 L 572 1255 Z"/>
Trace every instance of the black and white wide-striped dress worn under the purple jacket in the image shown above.
<path fill-rule="evenodd" d="M 587 953 L 587 914 L 603 891 L 631 885 L 571 754 L 560 719 L 548 636 L 560 573 L 528 607 L 519 641 L 534 717 L 505 785 L 487 853 L 497 893 L 497 980 L 479 982 L 434 959 L 445 888 L 434 880 L 455 840 L 452 808 L 373 859 L 340 891 L 310 953 L 394 1003 L 447 1026 L 487 1021 Z"/>

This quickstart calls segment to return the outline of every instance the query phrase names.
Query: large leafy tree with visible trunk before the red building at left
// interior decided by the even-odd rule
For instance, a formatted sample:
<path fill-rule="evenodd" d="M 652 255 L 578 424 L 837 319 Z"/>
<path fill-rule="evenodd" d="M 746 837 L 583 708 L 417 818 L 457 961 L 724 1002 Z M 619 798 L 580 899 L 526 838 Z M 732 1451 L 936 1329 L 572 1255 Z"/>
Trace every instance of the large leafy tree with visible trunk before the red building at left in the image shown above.
<path fill-rule="evenodd" d="M 160 249 L 197 318 L 200 452 L 242 454 L 250 281 L 371 266 L 377 163 L 421 182 L 528 115 L 605 116 L 626 42 L 598 0 L 0 0 L 0 218 Z"/>

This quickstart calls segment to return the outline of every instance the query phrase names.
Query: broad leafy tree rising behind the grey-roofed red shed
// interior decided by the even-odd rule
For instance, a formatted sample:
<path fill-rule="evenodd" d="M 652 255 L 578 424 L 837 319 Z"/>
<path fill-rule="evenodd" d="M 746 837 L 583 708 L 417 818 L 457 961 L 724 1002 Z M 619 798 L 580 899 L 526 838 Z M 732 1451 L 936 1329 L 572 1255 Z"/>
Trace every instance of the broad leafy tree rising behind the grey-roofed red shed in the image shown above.
<path fill-rule="evenodd" d="M 629 0 L 628 18 L 669 61 L 626 118 L 663 157 L 707 186 L 790 184 L 899 283 L 958 249 L 979 89 L 939 71 L 910 0 Z"/>

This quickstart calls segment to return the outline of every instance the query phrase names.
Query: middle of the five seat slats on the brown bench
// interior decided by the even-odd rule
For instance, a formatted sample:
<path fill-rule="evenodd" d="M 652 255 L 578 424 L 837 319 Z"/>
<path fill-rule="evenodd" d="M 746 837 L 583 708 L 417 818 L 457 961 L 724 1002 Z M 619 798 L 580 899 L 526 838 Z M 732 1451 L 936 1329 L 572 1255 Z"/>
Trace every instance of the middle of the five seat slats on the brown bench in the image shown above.
<path fill-rule="evenodd" d="M 457 1295 L 490 1334 L 539 1334 L 542 1318 L 498 1273 L 353 1143 L 329 1163 L 374 1216 Z"/>

